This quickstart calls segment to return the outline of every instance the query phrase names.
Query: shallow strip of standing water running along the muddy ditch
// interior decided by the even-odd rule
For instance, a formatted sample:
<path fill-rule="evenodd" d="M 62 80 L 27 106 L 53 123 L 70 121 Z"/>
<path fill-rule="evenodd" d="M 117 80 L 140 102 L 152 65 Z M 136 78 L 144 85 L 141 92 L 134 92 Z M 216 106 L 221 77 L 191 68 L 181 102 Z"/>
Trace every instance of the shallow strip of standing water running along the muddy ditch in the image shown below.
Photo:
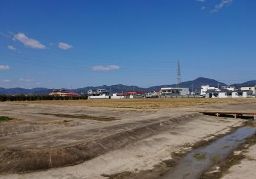
<path fill-rule="evenodd" d="M 227 155 L 236 150 L 239 144 L 245 142 L 247 137 L 255 134 L 256 128 L 242 127 L 236 132 L 221 137 L 214 143 L 193 150 L 180 159 L 179 164 L 164 179 L 197 179 L 214 163 L 225 159 Z"/>

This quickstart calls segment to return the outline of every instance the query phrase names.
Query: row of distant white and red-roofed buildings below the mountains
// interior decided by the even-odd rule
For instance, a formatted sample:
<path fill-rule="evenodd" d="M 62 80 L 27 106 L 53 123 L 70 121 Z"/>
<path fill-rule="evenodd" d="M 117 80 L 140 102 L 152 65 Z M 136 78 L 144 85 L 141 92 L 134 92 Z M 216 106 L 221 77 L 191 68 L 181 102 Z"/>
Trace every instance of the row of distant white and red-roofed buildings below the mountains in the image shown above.
<path fill-rule="evenodd" d="M 209 85 L 201 86 L 201 91 L 189 91 L 189 88 L 161 88 L 160 91 L 143 92 L 129 91 L 125 93 L 109 93 L 107 89 L 90 89 L 86 92 L 88 99 L 125 99 L 125 98 L 173 98 L 173 97 L 200 97 L 200 98 L 252 98 L 255 97 L 256 86 L 221 86 L 215 88 Z M 52 90 L 49 95 L 67 97 L 79 96 L 74 91 L 65 89 Z M 84 93 L 82 94 L 84 95 Z"/>

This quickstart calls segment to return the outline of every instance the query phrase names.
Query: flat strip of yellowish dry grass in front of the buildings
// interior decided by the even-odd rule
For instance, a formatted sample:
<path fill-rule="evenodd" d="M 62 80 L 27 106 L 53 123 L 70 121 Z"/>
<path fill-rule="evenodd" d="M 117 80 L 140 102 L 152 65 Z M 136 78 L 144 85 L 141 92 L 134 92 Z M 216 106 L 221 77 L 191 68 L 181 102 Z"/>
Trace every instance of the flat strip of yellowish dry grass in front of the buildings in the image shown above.
<path fill-rule="evenodd" d="M 160 109 L 172 107 L 187 107 L 195 105 L 227 103 L 227 102 L 256 102 L 256 98 L 142 98 L 125 100 L 55 100 L 55 101 L 26 101 L 20 104 L 72 105 L 90 107 L 113 107 L 131 109 Z"/>

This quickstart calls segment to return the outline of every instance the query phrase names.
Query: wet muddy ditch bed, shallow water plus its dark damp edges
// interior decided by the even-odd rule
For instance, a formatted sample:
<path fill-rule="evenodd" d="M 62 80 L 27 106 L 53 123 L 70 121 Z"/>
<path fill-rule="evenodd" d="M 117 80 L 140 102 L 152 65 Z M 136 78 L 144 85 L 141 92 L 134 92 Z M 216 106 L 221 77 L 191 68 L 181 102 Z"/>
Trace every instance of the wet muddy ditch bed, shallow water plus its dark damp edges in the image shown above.
<path fill-rule="evenodd" d="M 228 134 L 216 136 L 209 141 L 198 141 L 187 152 L 172 153 L 172 159 L 163 160 L 153 169 L 141 170 L 138 173 L 124 171 L 113 175 L 102 174 L 108 179 L 218 179 L 227 169 L 243 159 L 235 155 L 235 150 L 256 143 L 254 120 L 244 121 L 244 125 L 232 128 Z M 212 169 L 213 168 L 213 169 Z"/>

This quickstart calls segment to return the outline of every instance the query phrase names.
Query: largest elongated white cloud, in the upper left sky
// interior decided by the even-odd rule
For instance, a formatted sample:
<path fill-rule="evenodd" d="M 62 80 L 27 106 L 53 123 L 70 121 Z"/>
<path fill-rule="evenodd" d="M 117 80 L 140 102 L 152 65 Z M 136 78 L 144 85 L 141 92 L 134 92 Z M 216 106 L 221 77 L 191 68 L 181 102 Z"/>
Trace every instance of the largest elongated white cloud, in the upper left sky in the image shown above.
<path fill-rule="evenodd" d="M 33 49 L 45 49 L 45 45 L 40 43 L 38 40 L 29 38 L 24 33 L 17 33 L 16 35 L 13 36 L 13 40 L 19 40 L 26 47 L 31 47 Z"/>

